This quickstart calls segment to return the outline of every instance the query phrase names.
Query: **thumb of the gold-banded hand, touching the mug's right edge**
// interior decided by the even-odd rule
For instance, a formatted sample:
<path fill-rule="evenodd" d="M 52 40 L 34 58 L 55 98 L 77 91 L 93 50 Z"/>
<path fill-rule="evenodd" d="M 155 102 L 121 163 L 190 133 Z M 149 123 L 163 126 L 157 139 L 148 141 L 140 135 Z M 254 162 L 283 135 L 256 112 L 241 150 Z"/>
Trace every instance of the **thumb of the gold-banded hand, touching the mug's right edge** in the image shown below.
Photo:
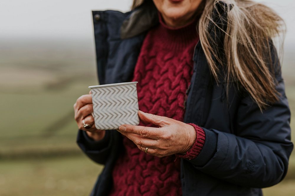
<path fill-rule="evenodd" d="M 160 127 L 166 127 L 171 124 L 171 118 L 165 116 L 158 116 L 150 113 L 144 113 L 143 111 L 138 111 L 138 116 L 141 120 L 158 125 Z"/>

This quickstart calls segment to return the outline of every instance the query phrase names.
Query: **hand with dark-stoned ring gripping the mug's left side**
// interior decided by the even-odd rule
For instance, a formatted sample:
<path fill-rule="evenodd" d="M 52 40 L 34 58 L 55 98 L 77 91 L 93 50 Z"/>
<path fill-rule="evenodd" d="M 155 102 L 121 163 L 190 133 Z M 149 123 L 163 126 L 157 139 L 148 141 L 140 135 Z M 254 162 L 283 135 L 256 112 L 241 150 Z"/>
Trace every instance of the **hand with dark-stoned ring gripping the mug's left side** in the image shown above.
<path fill-rule="evenodd" d="M 99 141 L 104 138 L 105 130 L 99 130 L 95 128 L 93 113 L 91 91 L 89 95 L 82 95 L 79 97 L 74 104 L 75 120 L 78 128 L 86 131 L 87 135 L 95 141 Z M 86 124 L 91 125 L 90 128 L 86 129 L 83 127 L 83 119 Z"/>

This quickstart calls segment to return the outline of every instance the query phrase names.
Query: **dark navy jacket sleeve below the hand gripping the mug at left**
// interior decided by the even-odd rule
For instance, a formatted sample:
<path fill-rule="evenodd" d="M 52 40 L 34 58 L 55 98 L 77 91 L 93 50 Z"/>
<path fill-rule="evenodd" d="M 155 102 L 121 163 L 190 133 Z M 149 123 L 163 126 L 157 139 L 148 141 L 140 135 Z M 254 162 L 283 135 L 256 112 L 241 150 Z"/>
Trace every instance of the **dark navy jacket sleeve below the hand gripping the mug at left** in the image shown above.
<path fill-rule="evenodd" d="M 106 131 L 104 138 L 97 142 L 89 138 L 85 131 L 79 130 L 77 144 L 91 160 L 104 165 L 111 151 L 112 138 L 111 132 Z"/>

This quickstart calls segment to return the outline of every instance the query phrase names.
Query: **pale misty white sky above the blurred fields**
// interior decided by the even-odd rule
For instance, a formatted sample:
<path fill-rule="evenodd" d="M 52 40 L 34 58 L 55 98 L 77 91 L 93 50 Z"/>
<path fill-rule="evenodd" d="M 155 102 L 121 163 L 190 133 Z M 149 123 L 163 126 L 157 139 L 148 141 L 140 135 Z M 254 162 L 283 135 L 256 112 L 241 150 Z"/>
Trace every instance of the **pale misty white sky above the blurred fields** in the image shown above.
<path fill-rule="evenodd" d="M 265 0 L 285 19 L 286 45 L 295 43 L 295 1 Z M 132 0 L 1 0 L 0 41 L 14 38 L 92 39 L 91 10 L 128 11 Z"/>

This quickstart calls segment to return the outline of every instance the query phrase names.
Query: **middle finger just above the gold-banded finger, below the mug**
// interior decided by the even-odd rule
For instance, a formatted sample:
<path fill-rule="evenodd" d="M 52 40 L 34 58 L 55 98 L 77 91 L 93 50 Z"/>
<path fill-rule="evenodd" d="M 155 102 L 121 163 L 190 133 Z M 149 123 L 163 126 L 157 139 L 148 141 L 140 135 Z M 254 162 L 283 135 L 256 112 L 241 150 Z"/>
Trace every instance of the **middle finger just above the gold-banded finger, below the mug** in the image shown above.
<path fill-rule="evenodd" d="M 145 138 L 143 136 L 134 134 L 134 133 L 127 133 L 124 131 L 119 132 L 122 135 L 125 135 L 128 139 L 132 140 L 133 143 L 135 143 L 137 146 L 150 146 L 150 148 L 157 148 L 158 147 L 158 141 L 150 138 Z"/>

